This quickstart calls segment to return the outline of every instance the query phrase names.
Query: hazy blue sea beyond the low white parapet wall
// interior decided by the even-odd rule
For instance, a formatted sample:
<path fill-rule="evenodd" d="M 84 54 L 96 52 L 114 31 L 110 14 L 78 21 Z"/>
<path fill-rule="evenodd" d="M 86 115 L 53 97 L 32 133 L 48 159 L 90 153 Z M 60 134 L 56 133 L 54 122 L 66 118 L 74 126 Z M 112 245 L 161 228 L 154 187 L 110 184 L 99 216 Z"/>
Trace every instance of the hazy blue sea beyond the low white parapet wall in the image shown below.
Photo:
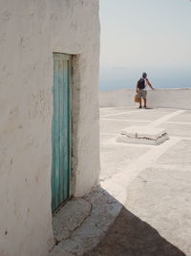
<path fill-rule="evenodd" d="M 134 89 L 142 72 L 147 72 L 148 79 L 158 88 L 191 88 L 190 68 L 101 68 L 99 90 Z"/>

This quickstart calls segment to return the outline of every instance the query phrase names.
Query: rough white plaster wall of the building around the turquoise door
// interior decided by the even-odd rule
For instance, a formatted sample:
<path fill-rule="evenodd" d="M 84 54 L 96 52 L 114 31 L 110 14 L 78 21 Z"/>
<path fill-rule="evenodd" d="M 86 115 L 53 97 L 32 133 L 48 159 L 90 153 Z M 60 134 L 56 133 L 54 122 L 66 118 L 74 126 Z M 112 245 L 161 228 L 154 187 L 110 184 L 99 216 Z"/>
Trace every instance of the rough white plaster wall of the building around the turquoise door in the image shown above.
<path fill-rule="evenodd" d="M 97 182 L 98 0 L 0 0 L 1 256 L 41 256 L 53 245 L 53 51 L 78 55 L 74 192 Z"/>

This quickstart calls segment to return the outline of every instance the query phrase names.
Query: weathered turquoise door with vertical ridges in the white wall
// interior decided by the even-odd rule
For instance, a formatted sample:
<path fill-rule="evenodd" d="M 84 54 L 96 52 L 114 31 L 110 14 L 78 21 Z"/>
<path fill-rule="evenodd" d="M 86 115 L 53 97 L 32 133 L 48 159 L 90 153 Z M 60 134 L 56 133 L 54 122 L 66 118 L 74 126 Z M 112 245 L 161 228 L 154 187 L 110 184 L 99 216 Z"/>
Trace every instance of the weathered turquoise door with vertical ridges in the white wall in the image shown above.
<path fill-rule="evenodd" d="M 71 56 L 53 54 L 52 210 L 70 198 Z"/>

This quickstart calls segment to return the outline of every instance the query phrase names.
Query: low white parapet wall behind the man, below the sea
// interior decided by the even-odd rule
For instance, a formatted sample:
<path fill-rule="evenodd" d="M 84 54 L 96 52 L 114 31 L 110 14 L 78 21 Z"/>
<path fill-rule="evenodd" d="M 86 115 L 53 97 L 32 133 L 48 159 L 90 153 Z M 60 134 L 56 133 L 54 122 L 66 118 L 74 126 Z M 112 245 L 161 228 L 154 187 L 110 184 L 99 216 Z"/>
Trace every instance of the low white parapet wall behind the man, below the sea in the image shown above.
<path fill-rule="evenodd" d="M 122 89 L 99 92 L 100 107 L 138 106 L 134 103 L 136 90 Z M 191 89 L 156 89 L 147 94 L 148 107 L 191 109 Z"/>

